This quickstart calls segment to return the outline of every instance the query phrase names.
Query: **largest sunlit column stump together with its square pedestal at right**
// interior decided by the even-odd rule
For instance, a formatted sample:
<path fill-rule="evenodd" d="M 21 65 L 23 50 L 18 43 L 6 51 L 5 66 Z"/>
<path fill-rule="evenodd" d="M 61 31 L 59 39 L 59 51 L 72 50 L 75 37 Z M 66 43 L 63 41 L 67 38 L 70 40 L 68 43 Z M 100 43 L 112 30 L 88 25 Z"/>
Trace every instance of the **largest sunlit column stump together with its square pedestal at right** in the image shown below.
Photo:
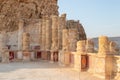
<path fill-rule="evenodd" d="M 98 67 L 97 69 L 102 69 L 100 72 L 96 70 L 97 73 L 102 73 L 105 80 L 111 80 L 113 75 L 113 55 L 110 54 L 109 49 L 109 39 L 107 36 L 99 37 L 99 52 L 98 52 Z"/>

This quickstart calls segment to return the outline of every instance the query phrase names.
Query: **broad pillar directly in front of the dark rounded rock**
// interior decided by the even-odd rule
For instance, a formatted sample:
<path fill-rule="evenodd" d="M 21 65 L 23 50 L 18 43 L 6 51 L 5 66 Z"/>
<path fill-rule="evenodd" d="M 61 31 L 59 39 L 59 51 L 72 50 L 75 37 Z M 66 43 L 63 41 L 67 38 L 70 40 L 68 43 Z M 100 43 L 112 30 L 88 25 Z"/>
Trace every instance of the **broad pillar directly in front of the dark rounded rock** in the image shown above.
<path fill-rule="evenodd" d="M 76 52 L 78 38 L 78 30 L 69 29 L 69 51 Z"/>

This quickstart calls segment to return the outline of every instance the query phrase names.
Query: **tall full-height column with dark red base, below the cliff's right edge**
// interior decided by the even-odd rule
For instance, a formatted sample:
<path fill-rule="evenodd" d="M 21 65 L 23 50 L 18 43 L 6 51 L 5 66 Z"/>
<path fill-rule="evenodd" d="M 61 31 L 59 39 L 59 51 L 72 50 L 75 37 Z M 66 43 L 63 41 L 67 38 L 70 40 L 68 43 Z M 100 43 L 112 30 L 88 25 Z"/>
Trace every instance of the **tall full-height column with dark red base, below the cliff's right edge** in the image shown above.
<path fill-rule="evenodd" d="M 52 47 L 51 61 L 58 60 L 58 16 L 52 16 Z"/>

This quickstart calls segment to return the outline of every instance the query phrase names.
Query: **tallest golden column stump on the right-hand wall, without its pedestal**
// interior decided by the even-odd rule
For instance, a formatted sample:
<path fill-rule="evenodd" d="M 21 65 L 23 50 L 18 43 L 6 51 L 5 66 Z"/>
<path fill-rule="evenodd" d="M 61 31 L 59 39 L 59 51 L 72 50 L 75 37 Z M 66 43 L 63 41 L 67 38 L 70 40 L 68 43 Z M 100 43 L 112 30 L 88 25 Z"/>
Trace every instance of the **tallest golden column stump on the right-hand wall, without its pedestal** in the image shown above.
<path fill-rule="evenodd" d="M 98 55 L 106 55 L 109 53 L 109 40 L 107 36 L 99 37 L 99 52 Z"/>

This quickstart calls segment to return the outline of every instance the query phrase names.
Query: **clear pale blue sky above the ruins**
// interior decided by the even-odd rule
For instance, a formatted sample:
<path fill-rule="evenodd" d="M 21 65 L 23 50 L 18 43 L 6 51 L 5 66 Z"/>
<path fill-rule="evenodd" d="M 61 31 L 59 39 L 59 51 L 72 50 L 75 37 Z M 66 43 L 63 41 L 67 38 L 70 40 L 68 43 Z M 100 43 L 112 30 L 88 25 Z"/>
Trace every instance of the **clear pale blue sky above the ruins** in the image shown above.
<path fill-rule="evenodd" d="M 59 13 L 80 20 L 87 37 L 120 36 L 120 0 L 58 0 Z"/>

